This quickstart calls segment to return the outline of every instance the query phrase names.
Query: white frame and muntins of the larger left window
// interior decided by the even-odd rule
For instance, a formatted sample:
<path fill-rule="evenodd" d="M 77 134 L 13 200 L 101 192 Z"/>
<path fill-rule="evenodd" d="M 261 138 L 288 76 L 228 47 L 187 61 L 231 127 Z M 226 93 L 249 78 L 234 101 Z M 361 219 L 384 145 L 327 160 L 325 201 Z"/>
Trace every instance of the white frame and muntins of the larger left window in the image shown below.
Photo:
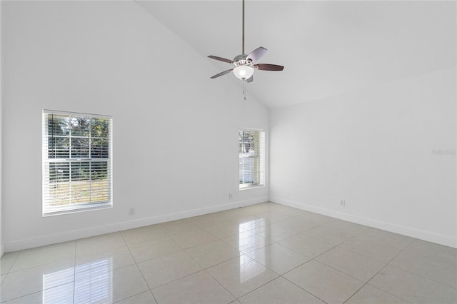
<path fill-rule="evenodd" d="M 69 154 L 67 158 L 63 157 L 49 157 L 49 116 L 51 115 L 56 115 L 56 116 L 68 116 L 69 118 L 89 118 L 89 119 L 96 119 L 96 118 L 103 118 L 108 120 L 108 136 L 91 136 L 91 127 L 89 126 L 89 135 L 87 136 L 71 136 L 71 128 L 69 128 L 69 135 L 68 135 L 68 141 L 69 141 Z M 42 154 L 41 154 L 41 160 L 42 160 L 42 167 L 41 167 L 41 186 L 42 186 L 42 200 L 41 200 L 41 212 L 42 216 L 56 216 L 56 215 L 61 215 L 61 214 L 68 214 L 68 213 L 75 213 L 75 212 L 81 212 L 81 211 L 92 211 L 92 210 L 99 210 L 99 209 L 104 209 L 104 208 L 112 208 L 113 206 L 113 118 L 109 115 L 99 115 L 99 114 L 92 114 L 92 113 L 79 113 L 79 112 L 69 112 L 69 111 L 54 111 L 54 110 L 48 110 L 44 109 L 42 111 L 42 138 L 41 138 L 41 146 L 42 146 Z M 64 136 L 62 136 L 64 138 Z M 71 146 L 71 141 L 74 138 L 87 138 L 89 141 L 89 156 L 82 156 L 81 157 L 72 157 L 72 146 Z M 93 139 L 104 139 L 106 138 L 108 143 L 107 143 L 107 149 L 104 151 L 104 148 L 101 148 L 101 157 L 92 157 L 91 155 L 91 140 Z M 54 139 L 53 139 L 54 141 Z M 104 154 L 107 154 L 107 157 L 104 157 Z M 54 168 L 57 168 L 57 164 L 66 164 L 68 163 L 69 168 L 71 168 L 71 163 L 78 164 L 81 166 L 87 166 L 89 164 L 89 185 L 93 185 L 93 178 L 95 174 L 92 171 L 91 168 L 95 164 L 96 166 L 102 166 L 100 172 L 104 173 L 104 166 L 106 166 L 106 181 L 107 181 L 107 189 L 106 189 L 106 195 L 107 198 L 106 200 L 103 201 L 94 201 L 91 202 L 91 194 L 92 191 L 89 191 L 89 201 L 85 203 L 74 203 L 74 204 L 67 204 L 65 206 L 51 206 L 51 203 L 53 201 L 53 198 L 50 194 L 50 188 L 51 188 L 51 181 L 50 181 L 50 176 L 51 176 L 51 171 L 52 168 L 50 164 L 54 164 Z M 55 169 L 54 169 L 55 170 Z M 69 188 L 74 186 L 74 184 L 71 184 L 71 175 L 73 174 L 73 171 L 69 169 Z M 104 193 L 104 191 L 98 192 L 99 196 L 101 196 Z M 71 190 L 69 191 L 68 194 L 68 199 L 71 201 Z M 76 199 L 73 197 L 73 199 Z M 56 200 L 55 200 L 56 201 Z"/>

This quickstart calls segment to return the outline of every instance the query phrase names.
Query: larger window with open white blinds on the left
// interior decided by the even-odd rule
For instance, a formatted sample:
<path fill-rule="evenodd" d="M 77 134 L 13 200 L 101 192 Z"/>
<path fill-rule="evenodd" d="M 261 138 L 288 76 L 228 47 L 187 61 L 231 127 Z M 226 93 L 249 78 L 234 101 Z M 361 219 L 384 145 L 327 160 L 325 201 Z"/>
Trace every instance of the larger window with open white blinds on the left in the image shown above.
<path fill-rule="evenodd" d="M 112 206 L 111 117 L 43 111 L 43 215 Z"/>

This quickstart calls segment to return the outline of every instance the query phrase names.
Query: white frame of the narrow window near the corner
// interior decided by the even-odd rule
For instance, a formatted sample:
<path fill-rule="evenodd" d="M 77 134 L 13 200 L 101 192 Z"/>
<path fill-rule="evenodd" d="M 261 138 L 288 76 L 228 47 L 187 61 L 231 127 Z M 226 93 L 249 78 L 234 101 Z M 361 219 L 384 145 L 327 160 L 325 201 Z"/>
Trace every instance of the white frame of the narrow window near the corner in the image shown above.
<path fill-rule="evenodd" d="M 258 156 L 256 157 L 241 157 L 241 151 L 240 151 L 240 132 L 256 132 L 258 133 L 258 151 L 256 151 L 256 147 L 254 147 L 254 155 L 256 153 Z M 243 140 L 241 140 L 243 143 Z M 241 173 L 241 158 L 258 158 L 258 161 L 254 166 L 258 166 L 258 169 L 255 169 L 252 171 L 251 174 L 257 175 L 254 176 L 253 179 L 257 180 L 258 182 L 256 183 L 241 183 L 241 174 L 245 175 L 246 173 L 243 172 Z M 246 171 L 246 170 L 243 170 Z M 263 188 L 265 187 L 266 184 L 266 132 L 263 131 L 262 129 L 256 129 L 256 128 L 238 128 L 238 180 L 240 181 L 238 183 L 238 189 L 239 191 L 244 191 L 244 190 L 249 190 L 249 189 L 254 189 L 254 188 Z"/>

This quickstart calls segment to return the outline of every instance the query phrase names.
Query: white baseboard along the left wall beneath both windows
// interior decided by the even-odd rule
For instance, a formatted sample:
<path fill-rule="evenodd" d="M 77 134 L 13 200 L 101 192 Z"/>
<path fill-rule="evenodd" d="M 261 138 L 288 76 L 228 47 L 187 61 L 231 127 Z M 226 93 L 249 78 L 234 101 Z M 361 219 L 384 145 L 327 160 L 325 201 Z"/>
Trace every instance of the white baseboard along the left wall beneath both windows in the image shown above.
<path fill-rule="evenodd" d="M 105 226 L 96 226 L 91 228 L 84 228 L 81 230 L 73 230 L 66 233 L 45 235 L 39 238 L 29 238 L 26 240 L 16 240 L 13 242 L 4 243 L 5 252 L 24 250 L 27 248 L 35 248 L 44 245 L 50 245 L 55 243 L 67 242 L 69 240 L 77 240 L 79 238 L 89 238 L 95 235 L 101 235 L 105 233 L 114 233 L 121 230 L 127 230 L 132 228 L 139 228 L 143 226 L 154 225 L 158 223 L 164 223 L 169 221 L 180 220 L 182 218 L 191 218 L 193 216 L 201 216 L 203 214 L 215 213 L 219 211 L 226 211 L 239 207 L 246 207 L 255 205 L 256 203 L 263 203 L 268 201 L 268 197 L 256 198 L 248 201 L 236 201 L 233 203 L 224 203 L 217 206 L 205 207 L 192 209 L 189 211 L 183 211 L 179 213 L 169 213 L 161 216 L 152 216 L 150 218 L 140 218 L 134 221 L 125 221 L 121 223 L 113 223 Z"/>

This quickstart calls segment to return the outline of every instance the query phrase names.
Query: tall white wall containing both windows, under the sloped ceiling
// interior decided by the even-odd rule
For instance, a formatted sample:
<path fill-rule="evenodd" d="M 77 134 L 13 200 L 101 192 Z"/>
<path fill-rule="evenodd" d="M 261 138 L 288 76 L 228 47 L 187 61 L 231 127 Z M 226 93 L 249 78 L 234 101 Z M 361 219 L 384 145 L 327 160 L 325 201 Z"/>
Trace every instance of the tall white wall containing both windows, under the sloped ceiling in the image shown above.
<path fill-rule="evenodd" d="M 268 200 L 238 191 L 237 150 L 268 110 L 139 5 L 1 5 L 6 251 Z M 43 108 L 113 116 L 114 208 L 41 217 Z"/>

